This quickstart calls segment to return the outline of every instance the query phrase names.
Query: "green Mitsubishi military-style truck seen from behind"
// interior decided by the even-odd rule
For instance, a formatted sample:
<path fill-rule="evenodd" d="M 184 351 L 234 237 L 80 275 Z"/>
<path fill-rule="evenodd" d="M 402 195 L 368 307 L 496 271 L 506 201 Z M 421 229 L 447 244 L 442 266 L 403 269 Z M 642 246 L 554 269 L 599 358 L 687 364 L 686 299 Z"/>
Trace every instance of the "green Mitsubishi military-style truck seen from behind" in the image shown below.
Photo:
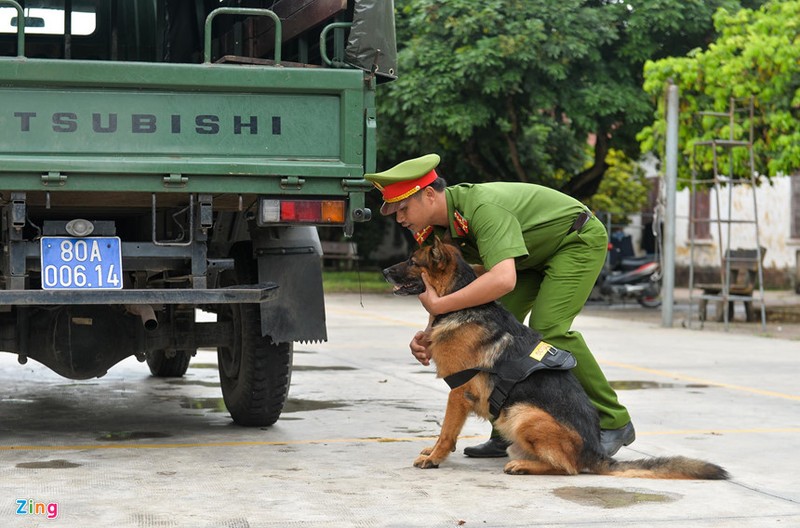
<path fill-rule="evenodd" d="M 0 0 L 0 350 L 88 379 L 215 348 L 234 422 L 274 423 L 327 339 L 317 227 L 370 218 L 392 4 Z"/>

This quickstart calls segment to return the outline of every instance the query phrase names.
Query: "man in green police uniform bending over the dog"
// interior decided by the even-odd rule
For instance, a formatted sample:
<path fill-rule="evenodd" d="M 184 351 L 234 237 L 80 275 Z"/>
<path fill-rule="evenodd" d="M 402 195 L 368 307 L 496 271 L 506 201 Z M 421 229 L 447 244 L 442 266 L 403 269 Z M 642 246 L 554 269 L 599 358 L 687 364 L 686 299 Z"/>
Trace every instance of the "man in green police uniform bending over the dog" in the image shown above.
<path fill-rule="evenodd" d="M 418 243 L 435 233 L 450 240 L 477 265 L 478 278 L 439 297 L 432 288 L 419 296 L 430 314 L 454 312 L 498 300 L 519 321 L 578 360 L 573 369 L 600 413 L 601 440 L 611 456 L 636 434 L 627 409 L 617 400 L 583 336 L 571 330 L 606 258 L 603 224 L 579 201 L 528 183 L 492 182 L 447 187 L 436 173 L 439 156 L 428 154 L 384 172 L 366 174 L 381 191 L 381 213 L 394 214 Z M 424 278 L 424 277 L 423 277 Z M 430 329 L 430 325 L 428 327 Z M 410 348 L 430 363 L 425 332 Z M 506 456 L 508 444 L 492 430 L 489 440 L 464 449 L 467 456 Z"/>

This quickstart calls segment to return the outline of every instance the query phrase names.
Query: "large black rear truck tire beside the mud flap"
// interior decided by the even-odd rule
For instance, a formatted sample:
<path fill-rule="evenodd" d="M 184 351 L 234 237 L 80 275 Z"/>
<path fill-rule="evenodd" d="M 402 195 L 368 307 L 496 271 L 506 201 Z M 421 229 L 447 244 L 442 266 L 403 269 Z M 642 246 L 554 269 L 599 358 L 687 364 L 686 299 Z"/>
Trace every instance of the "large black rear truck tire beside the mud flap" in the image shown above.
<path fill-rule="evenodd" d="M 238 425 L 274 424 L 289 394 L 292 343 L 272 342 L 261 335 L 258 304 L 231 304 L 218 320 L 233 323 L 233 346 L 219 347 L 217 359 L 222 397 Z"/>

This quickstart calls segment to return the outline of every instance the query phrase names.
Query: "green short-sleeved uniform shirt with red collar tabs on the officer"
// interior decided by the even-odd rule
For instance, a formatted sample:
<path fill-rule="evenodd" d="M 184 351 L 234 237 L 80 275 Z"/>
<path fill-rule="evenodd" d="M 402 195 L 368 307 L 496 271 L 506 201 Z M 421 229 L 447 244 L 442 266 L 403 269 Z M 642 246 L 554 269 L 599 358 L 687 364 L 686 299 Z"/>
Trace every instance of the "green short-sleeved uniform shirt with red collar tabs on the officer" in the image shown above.
<path fill-rule="evenodd" d="M 445 196 L 453 241 L 467 262 L 486 269 L 509 258 L 518 270 L 541 269 L 586 211 L 571 196 L 531 183 L 464 183 L 447 187 Z"/>

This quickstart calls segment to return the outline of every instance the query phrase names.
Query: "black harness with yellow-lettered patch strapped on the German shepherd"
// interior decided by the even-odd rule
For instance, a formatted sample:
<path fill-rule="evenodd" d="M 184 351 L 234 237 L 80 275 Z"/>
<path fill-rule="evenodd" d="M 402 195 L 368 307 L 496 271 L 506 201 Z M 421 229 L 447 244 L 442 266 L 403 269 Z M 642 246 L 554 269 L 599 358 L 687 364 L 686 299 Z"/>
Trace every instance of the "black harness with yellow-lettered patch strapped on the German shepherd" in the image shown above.
<path fill-rule="evenodd" d="M 527 379 L 537 370 L 569 370 L 577 364 L 578 361 L 570 352 L 539 341 L 530 354 L 505 358 L 495 363 L 492 369 L 475 367 L 462 370 L 446 376 L 444 381 L 452 390 L 465 384 L 479 372 L 486 372 L 494 376 L 494 390 L 489 395 L 489 412 L 496 418 L 508 400 L 511 389 L 517 383 Z"/>

